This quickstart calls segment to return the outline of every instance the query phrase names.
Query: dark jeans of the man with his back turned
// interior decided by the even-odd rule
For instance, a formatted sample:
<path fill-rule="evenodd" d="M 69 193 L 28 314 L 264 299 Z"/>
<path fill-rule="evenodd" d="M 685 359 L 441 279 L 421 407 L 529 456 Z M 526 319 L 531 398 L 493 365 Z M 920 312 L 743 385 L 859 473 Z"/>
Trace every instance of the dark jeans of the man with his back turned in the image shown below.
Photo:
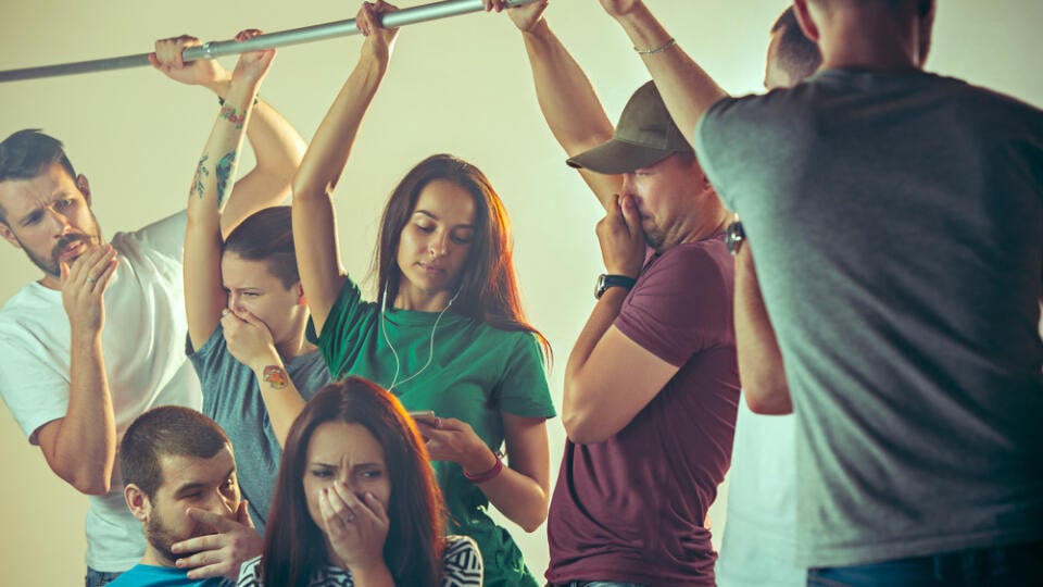
<path fill-rule="evenodd" d="M 808 587 L 1039 587 L 1043 541 L 856 566 L 808 569 Z"/>

